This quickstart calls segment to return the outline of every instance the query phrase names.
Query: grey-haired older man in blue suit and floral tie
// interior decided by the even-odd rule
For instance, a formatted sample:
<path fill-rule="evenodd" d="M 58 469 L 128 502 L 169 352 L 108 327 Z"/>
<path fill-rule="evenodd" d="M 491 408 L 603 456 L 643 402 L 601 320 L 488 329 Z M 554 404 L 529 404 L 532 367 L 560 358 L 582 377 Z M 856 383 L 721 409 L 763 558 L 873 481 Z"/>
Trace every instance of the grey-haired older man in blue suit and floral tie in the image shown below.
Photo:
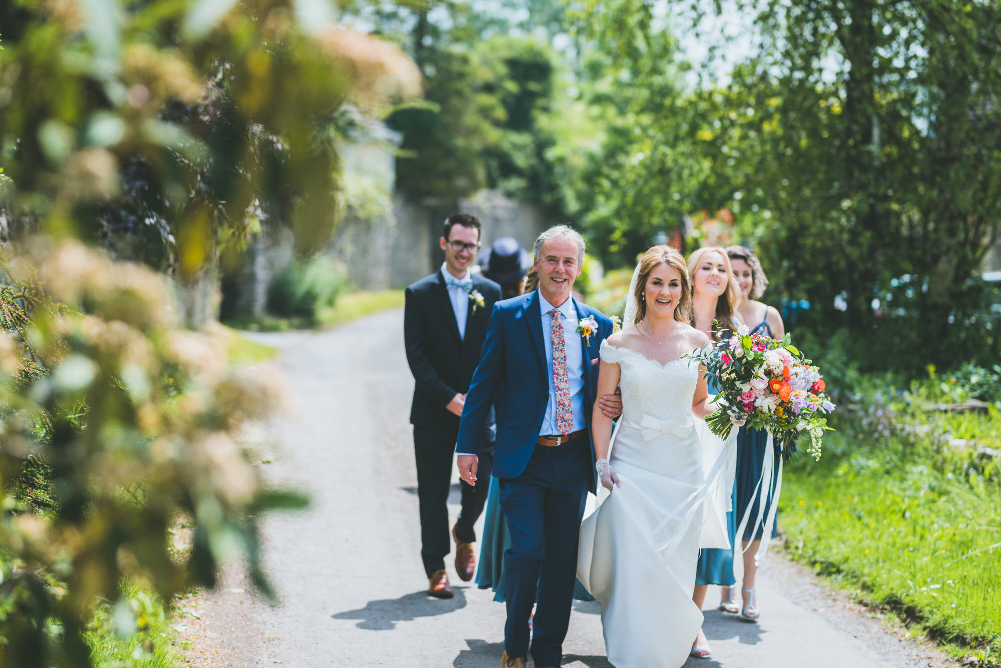
<path fill-rule="evenodd" d="M 532 657 L 540 668 L 561 664 L 581 520 L 596 489 L 591 413 L 599 349 L 613 327 L 571 295 L 583 260 L 584 239 L 570 227 L 536 240 L 539 290 L 494 305 L 455 446 L 459 475 L 475 484 L 478 435 L 502 388 L 493 475 L 511 529 L 506 668 L 525 666 L 534 604 Z"/>

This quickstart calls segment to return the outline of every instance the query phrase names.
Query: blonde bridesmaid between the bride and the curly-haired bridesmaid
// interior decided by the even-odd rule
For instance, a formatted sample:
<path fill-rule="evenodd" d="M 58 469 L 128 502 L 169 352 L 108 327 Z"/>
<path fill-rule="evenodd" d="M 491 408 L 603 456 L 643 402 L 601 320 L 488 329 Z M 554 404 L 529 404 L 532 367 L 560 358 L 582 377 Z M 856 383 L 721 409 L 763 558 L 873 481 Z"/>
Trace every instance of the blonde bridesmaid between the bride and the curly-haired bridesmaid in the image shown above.
<path fill-rule="evenodd" d="M 692 326 L 709 335 L 714 341 L 729 336 L 741 325 L 737 314 L 741 293 L 730 266 L 727 252 L 718 246 L 700 248 L 689 256 L 689 276 L 692 279 Z M 715 323 L 715 324 L 714 324 Z M 719 392 L 719 387 L 709 388 L 711 394 Z M 738 441 L 740 452 L 740 441 Z M 739 457 L 739 455 L 738 455 Z M 735 503 L 736 508 L 736 503 Z M 737 534 L 737 520 L 734 512 L 727 513 L 727 529 L 730 534 L 730 544 L 734 544 Z M 695 591 L 692 600 L 702 608 L 706 600 L 706 591 L 711 584 L 724 587 L 724 604 L 731 605 L 731 588 L 736 583 L 734 579 L 734 551 L 705 549 L 699 554 L 699 564 L 696 569 Z M 734 604 L 735 605 L 735 604 Z M 723 607 L 721 605 L 721 607 Z M 734 610 L 736 612 L 736 610 Z M 708 659 L 712 656 L 709 641 L 702 629 L 692 644 L 692 656 Z"/>

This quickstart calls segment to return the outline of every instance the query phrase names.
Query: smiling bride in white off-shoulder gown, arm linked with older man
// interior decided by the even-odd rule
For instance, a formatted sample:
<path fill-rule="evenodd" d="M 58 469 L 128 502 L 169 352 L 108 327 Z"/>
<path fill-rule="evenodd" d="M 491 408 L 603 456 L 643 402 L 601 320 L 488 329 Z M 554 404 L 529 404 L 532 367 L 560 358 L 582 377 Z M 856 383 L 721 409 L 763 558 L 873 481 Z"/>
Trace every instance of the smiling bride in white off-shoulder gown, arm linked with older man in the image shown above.
<path fill-rule="evenodd" d="M 703 621 L 692 602 L 699 548 L 730 547 L 719 502 L 728 495 L 718 492 L 734 445 L 720 442 L 722 452 L 708 449 L 714 461 L 704 462 L 703 439 L 713 438 L 702 422 L 713 411 L 705 369 L 681 356 L 709 338 L 688 324 L 685 259 L 651 248 L 627 299 L 626 327 L 601 349 L 598 395 L 622 388 L 615 436 L 600 408 L 593 417 L 598 472 L 611 493 L 581 528 L 578 577 L 602 603 L 609 661 L 678 668 Z"/>

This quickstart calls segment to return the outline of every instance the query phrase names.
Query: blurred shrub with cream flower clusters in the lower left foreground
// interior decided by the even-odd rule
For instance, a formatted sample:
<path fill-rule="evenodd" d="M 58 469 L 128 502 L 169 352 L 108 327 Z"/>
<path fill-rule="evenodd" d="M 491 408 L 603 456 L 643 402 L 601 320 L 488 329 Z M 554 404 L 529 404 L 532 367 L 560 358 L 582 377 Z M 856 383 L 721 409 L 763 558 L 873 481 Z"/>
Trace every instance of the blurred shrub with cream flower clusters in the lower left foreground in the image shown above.
<path fill-rule="evenodd" d="M 273 373 L 182 329 L 146 268 L 39 240 L 0 267 L 0 665 L 90 665 L 95 609 L 141 628 L 123 582 L 169 601 L 242 554 L 271 595 L 257 518 L 304 503 L 265 488 L 241 445 L 279 405 Z M 169 544 L 180 518 L 184 554 Z"/>

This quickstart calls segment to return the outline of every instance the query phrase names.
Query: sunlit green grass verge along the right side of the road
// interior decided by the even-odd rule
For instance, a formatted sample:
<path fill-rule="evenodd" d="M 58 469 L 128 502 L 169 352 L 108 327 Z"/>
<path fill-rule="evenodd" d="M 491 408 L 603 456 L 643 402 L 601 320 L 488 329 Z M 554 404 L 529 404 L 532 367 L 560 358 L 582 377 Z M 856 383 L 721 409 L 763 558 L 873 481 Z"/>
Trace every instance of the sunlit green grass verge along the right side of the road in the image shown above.
<path fill-rule="evenodd" d="M 821 462 L 786 469 L 789 553 L 952 655 L 1001 666 L 1001 487 L 952 473 L 930 449 L 851 433 L 828 436 Z"/>

